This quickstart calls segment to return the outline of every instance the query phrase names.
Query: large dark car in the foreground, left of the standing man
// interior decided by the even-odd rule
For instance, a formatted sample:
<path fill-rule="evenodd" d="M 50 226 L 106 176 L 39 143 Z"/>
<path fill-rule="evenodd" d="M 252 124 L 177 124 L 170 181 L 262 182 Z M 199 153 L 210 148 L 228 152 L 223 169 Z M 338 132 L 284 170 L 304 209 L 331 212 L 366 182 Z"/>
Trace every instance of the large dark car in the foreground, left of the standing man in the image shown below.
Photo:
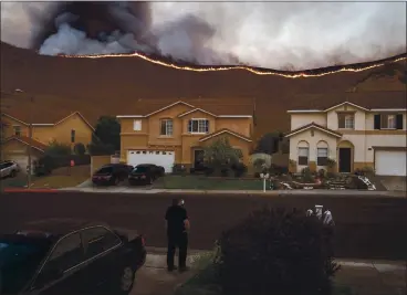
<path fill-rule="evenodd" d="M 127 295 L 144 265 L 144 238 L 105 224 L 42 221 L 0 235 L 0 294 Z"/>

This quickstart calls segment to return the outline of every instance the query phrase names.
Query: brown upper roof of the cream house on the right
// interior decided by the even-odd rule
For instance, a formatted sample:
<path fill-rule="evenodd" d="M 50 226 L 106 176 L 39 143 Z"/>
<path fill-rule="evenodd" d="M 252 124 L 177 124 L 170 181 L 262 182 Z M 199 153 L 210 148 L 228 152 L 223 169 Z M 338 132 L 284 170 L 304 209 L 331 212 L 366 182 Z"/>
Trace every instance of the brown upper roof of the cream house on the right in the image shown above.
<path fill-rule="evenodd" d="M 290 109 L 323 112 L 345 102 L 366 109 L 406 109 L 406 96 L 398 91 L 305 94 L 294 96 Z"/>

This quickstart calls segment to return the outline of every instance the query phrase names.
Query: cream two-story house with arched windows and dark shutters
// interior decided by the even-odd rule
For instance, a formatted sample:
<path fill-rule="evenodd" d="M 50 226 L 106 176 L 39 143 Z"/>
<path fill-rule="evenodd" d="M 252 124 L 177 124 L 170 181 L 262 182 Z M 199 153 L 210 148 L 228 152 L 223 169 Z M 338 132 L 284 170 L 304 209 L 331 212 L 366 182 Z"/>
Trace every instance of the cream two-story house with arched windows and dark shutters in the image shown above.
<path fill-rule="evenodd" d="M 327 105 L 325 97 L 314 103 L 321 108 L 303 106 L 288 112 L 291 170 L 326 169 L 330 158 L 338 172 L 371 167 L 376 175 L 406 176 L 406 93 L 340 96 L 346 101 Z"/>

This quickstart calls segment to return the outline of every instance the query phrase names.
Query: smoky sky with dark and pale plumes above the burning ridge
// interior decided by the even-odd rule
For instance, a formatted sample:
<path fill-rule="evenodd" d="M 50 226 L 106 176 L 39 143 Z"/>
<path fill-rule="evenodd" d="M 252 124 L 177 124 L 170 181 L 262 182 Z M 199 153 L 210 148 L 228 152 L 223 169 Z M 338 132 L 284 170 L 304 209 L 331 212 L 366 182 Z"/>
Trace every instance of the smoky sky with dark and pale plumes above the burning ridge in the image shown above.
<path fill-rule="evenodd" d="M 109 2 L 87 14 L 62 3 L 1 2 L 1 40 L 49 55 L 142 51 L 283 70 L 407 51 L 405 2 Z"/>

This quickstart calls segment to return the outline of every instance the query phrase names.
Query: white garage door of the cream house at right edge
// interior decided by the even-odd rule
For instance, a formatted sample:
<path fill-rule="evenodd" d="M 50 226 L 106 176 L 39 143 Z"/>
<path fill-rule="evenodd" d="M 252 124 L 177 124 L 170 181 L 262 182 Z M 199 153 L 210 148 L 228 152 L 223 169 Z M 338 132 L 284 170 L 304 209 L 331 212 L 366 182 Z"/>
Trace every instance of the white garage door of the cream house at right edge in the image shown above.
<path fill-rule="evenodd" d="M 378 176 L 406 176 L 406 151 L 375 151 L 375 170 Z"/>

